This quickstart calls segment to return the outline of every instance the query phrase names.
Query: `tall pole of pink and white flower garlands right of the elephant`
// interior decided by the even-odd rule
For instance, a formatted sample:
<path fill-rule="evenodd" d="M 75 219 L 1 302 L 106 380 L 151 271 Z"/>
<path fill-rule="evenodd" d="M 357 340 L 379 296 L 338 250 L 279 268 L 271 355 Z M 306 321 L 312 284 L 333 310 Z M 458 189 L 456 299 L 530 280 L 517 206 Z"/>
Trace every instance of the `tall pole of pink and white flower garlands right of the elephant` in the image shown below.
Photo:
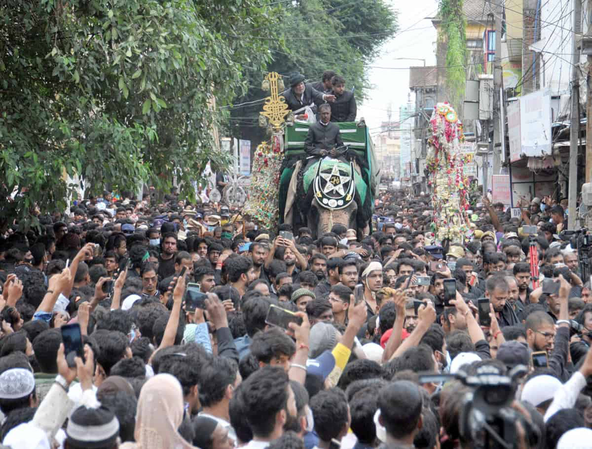
<path fill-rule="evenodd" d="M 463 174 L 468 157 L 459 152 L 464 140 L 462 123 L 454 108 L 444 102 L 434 107 L 430 127 L 426 168 L 432 174 L 428 184 L 433 189 L 433 234 L 438 242 L 462 243 L 472 234 L 466 213 L 469 181 Z"/>

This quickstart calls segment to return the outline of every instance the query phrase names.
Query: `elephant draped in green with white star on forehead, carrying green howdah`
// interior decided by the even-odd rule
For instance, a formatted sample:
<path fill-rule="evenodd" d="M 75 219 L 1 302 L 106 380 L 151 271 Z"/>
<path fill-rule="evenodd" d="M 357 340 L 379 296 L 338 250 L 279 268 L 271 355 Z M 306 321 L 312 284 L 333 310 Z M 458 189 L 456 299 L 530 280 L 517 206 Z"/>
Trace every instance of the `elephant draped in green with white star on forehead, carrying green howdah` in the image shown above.
<path fill-rule="evenodd" d="M 314 237 L 343 224 L 368 232 L 379 182 L 372 142 L 365 124 L 338 123 L 348 158 L 306 158 L 308 123 L 287 126 L 285 159 L 279 181 L 280 222 L 292 229 L 308 226 Z M 343 158 L 340 158 L 343 159 Z"/>

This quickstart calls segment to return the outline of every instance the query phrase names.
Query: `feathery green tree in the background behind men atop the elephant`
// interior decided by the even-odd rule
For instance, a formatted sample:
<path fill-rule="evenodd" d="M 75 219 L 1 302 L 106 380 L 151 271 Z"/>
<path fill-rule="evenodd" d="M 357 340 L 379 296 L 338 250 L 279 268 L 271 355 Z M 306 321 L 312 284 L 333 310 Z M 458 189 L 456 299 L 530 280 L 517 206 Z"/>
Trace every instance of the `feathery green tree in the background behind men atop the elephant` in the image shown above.
<path fill-rule="evenodd" d="M 265 70 L 249 70 L 249 91 L 235 103 L 256 101 L 268 95 L 260 89 L 266 72 L 288 76 L 300 72 L 308 81 L 320 81 L 324 70 L 334 70 L 355 88 L 356 100 L 369 87 L 365 66 L 382 43 L 394 36 L 397 14 L 384 0 L 306 0 L 281 4 L 281 39 L 268 41 L 272 61 Z M 284 78 L 287 85 L 287 78 Z M 263 139 L 257 118 L 261 104 L 234 108 L 234 133 L 255 142 Z M 236 129 L 239 128 L 239 129 Z"/>

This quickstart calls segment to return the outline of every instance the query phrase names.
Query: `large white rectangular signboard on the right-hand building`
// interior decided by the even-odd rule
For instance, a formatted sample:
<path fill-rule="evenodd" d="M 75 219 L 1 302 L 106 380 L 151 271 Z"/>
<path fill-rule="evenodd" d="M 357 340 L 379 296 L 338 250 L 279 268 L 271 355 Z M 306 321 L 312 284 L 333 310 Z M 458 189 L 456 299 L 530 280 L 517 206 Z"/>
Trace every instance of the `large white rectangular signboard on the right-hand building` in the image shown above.
<path fill-rule="evenodd" d="M 520 145 L 526 156 L 552 154 L 551 93 L 548 89 L 520 97 Z"/>

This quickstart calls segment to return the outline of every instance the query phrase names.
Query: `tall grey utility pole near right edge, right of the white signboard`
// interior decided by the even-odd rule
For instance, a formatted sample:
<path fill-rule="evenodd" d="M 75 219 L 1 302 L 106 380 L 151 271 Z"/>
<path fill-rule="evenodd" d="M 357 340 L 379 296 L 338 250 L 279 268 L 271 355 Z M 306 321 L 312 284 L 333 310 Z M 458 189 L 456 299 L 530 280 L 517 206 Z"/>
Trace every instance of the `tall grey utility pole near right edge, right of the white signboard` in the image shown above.
<path fill-rule="evenodd" d="M 578 134 L 580 129 L 580 53 L 577 33 L 581 33 L 581 0 L 574 0 L 574 17 L 572 32 L 572 66 L 571 66 L 571 126 L 570 126 L 570 182 L 568 182 L 568 229 L 575 229 L 576 202 L 578 194 Z M 589 95 L 589 94 L 588 94 Z"/>

